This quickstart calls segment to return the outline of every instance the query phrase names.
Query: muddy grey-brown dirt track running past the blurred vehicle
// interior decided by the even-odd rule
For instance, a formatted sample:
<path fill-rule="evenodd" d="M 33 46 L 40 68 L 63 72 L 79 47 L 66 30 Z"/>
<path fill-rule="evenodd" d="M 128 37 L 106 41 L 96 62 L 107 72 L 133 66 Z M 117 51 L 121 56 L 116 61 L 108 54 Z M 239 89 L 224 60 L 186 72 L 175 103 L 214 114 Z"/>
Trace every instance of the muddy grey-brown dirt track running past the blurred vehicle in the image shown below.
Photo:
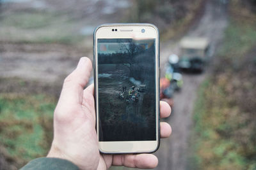
<path fill-rule="evenodd" d="M 223 32 L 228 24 L 225 4 L 221 1 L 208 1 L 204 15 L 194 25 L 186 36 L 204 36 L 211 41 L 211 53 L 214 56 L 216 48 L 221 43 Z M 161 49 L 161 66 L 167 62 L 168 55 L 179 53 L 177 43 L 170 41 Z M 161 70 L 161 74 L 163 74 Z M 193 106 L 197 89 L 205 78 L 205 74 L 184 74 L 182 91 L 174 96 L 173 113 L 167 122 L 172 125 L 172 136 L 162 139 L 159 151 L 159 166 L 156 169 L 189 169 L 187 163 L 189 134 L 193 125 Z"/>

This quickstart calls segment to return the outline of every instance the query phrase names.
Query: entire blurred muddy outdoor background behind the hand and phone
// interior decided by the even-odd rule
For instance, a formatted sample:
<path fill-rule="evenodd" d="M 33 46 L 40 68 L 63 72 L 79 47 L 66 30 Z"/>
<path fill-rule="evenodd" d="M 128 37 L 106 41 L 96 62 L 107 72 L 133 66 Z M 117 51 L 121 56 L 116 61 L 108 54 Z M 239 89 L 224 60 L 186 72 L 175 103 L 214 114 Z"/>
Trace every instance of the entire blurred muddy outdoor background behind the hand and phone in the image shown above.
<path fill-rule="evenodd" d="M 0 0 L 0 169 L 47 154 L 63 80 L 111 22 L 160 31 L 173 132 L 156 169 L 256 169 L 255 0 Z"/>

